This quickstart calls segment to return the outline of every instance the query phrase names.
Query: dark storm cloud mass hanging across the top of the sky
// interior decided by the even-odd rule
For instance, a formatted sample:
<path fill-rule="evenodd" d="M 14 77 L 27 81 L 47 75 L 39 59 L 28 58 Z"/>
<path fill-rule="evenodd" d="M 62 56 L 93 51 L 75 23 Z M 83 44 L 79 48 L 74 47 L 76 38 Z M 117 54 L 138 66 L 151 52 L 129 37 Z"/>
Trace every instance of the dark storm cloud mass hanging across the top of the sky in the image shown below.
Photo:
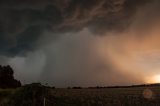
<path fill-rule="evenodd" d="M 121 31 L 138 6 L 150 0 L 1 0 L 0 54 L 33 50 L 43 31 L 64 33 L 84 27 L 96 33 Z M 56 36 L 55 36 L 56 38 Z"/>

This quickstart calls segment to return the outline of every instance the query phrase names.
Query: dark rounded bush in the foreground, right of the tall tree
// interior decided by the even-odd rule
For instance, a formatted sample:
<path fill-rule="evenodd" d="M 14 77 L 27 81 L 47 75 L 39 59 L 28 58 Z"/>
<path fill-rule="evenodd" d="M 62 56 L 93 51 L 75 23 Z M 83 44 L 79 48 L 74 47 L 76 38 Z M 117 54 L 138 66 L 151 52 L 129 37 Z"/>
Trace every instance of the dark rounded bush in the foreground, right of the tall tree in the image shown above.
<path fill-rule="evenodd" d="M 25 85 L 12 97 L 12 106 L 43 106 L 45 87 L 40 83 Z"/>

